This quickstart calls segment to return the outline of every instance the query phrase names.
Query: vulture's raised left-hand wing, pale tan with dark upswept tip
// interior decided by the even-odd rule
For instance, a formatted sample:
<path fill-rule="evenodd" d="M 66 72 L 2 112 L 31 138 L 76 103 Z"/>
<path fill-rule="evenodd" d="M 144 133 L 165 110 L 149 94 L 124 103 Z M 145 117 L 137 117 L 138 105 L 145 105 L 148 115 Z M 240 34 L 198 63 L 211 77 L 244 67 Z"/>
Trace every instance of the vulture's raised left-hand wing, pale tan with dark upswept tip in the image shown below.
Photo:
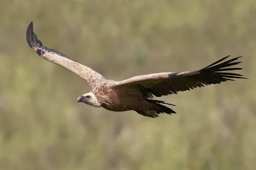
<path fill-rule="evenodd" d="M 36 34 L 33 32 L 33 22 L 31 22 L 27 28 L 26 40 L 29 47 L 32 48 L 32 50 L 34 50 L 39 56 L 79 75 L 89 83 L 90 88 L 93 88 L 96 82 L 101 81 L 102 79 L 107 79 L 93 69 L 76 62 L 70 57 L 43 46 L 42 42 L 38 40 Z"/>

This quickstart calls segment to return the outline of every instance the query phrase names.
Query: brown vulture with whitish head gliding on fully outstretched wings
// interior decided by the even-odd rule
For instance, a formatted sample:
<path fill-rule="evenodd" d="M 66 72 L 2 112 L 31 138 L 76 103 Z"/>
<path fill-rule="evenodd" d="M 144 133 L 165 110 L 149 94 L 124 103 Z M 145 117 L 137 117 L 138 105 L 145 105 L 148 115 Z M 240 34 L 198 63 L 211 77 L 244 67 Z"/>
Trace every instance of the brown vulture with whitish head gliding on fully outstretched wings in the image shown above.
<path fill-rule="evenodd" d="M 154 96 L 177 94 L 179 91 L 189 91 L 234 79 L 247 79 L 241 74 L 229 72 L 242 69 L 230 68 L 241 63 L 236 61 L 240 57 L 227 59 L 230 57 L 227 56 L 196 71 L 147 74 L 116 82 L 58 51 L 45 47 L 33 32 L 33 22 L 27 28 L 26 40 L 29 47 L 40 57 L 72 71 L 89 84 L 90 92 L 79 96 L 77 102 L 109 111 L 133 110 L 152 118 L 158 117 L 160 113 L 172 115 L 176 112 L 166 107 L 172 104 L 153 99 Z"/>

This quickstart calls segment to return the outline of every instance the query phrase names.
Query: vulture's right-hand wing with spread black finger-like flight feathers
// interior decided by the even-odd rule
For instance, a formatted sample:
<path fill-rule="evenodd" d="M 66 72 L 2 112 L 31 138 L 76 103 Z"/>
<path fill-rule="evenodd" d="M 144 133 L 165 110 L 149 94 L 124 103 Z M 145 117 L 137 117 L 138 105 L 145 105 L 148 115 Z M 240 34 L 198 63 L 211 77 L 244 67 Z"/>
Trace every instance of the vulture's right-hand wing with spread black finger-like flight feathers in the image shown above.
<path fill-rule="evenodd" d="M 227 57 L 224 57 L 201 70 L 136 76 L 121 82 L 115 82 L 115 87 L 137 87 L 146 97 L 152 97 L 150 94 L 160 97 L 169 94 L 177 94 L 178 91 L 187 91 L 197 87 L 204 87 L 204 85 L 219 84 L 234 79 L 246 79 L 241 74 L 226 72 L 242 69 L 228 68 L 229 66 L 241 63 L 234 62 L 240 57 L 222 62 L 224 59 L 227 59 Z"/>

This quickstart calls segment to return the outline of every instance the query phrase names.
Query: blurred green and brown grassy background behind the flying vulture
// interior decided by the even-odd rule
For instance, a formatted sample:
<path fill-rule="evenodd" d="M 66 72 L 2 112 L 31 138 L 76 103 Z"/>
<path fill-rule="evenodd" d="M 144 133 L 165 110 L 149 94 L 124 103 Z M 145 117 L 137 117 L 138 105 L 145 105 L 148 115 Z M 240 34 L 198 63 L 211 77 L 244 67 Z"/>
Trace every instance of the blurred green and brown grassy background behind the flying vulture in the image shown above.
<path fill-rule="evenodd" d="M 76 102 L 83 79 L 29 48 L 31 21 L 109 79 L 242 55 L 249 80 L 159 98 L 173 116 L 93 108 Z M 253 170 L 255 74 L 255 0 L 1 0 L 0 170 Z"/>

